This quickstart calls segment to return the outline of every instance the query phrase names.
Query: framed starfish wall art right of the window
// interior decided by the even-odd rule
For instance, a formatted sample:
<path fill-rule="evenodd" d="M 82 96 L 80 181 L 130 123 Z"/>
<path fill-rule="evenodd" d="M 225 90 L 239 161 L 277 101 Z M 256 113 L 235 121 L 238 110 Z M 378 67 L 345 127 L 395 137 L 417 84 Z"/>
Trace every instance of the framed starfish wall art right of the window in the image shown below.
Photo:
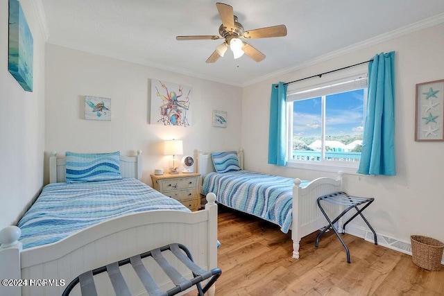
<path fill-rule="evenodd" d="M 416 85 L 415 141 L 444 141 L 444 79 Z"/>

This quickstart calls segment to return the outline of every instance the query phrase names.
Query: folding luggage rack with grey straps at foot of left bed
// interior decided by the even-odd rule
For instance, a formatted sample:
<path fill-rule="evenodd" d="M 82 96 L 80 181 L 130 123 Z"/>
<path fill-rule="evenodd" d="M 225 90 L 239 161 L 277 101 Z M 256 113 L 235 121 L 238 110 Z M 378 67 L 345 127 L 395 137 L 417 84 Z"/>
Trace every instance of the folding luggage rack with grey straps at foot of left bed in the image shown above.
<path fill-rule="evenodd" d="M 176 268 L 173 268 L 173 266 L 162 255 L 162 252 L 166 250 L 170 250 L 177 259 L 184 263 L 187 268 L 189 268 L 189 270 L 193 272 L 193 279 L 185 279 L 185 277 L 180 275 L 180 272 L 178 272 Z M 181 250 L 183 250 L 185 254 Z M 147 256 L 153 257 L 155 262 L 160 265 L 162 270 L 164 270 L 164 272 L 168 275 L 171 281 L 173 281 L 173 284 L 175 284 L 176 287 L 171 288 L 167 291 L 160 290 L 157 284 L 155 284 L 153 277 L 151 277 L 148 270 L 146 270 L 144 263 L 142 263 L 142 259 Z M 185 247 L 185 245 L 172 243 L 170 245 L 165 245 L 164 247 L 159 247 L 143 254 L 132 256 L 130 258 L 102 266 L 101 268 L 96 268 L 94 270 L 84 272 L 82 275 L 79 275 L 78 277 L 73 279 L 71 283 L 69 283 L 67 288 L 65 288 L 62 296 L 69 295 L 74 286 L 76 286 L 79 282 L 80 290 L 83 296 L 98 295 L 96 286 L 94 284 L 94 275 L 98 275 L 99 273 L 105 271 L 108 272 L 108 277 L 110 277 L 111 284 L 116 295 L 131 296 L 126 281 L 125 279 L 123 279 L 123 276 L 121 275 L 121 272 L 119 270 L 119 266 L 128 263 L 131 263 L 137 276 L 142 281 L 142 284 L 144 285 L 146 291 L 148 292 L 148 295 L 150 296 L 176 295 L 177 293 L 187 290 L 187 288 L 190 288 L 194 285 L 196 285 L 197 287 L 198 295 L 203 296 L 204 293 L 207 292 L 207 290 L 216 282 L 216 280 L 221 276 L 222 273 L 222 270 L 220 268 L 213 268 L 212 270 L 208 271 L 203 270 L 198 265 L 196 265 L 196 263 L 194 263 L 191 253 L 189 252 L 187 247 Z M 205 281 L 205 279 L 209 279 L 210 277 L 210 281 L 208 281 L 205 287 L 202 288 L 200 282 Z"/>

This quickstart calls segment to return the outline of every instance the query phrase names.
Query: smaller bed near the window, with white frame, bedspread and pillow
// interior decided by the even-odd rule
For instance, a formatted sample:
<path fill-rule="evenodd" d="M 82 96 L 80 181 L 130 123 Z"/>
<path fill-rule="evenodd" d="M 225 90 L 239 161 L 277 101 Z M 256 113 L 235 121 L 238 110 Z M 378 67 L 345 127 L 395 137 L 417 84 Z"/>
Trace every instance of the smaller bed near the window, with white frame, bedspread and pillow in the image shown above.
<path fill-rule="evenodd" d="M 300 239 L 327 223 L 317 198 L 341 191 L 342 182 L 341 172 L 336 179 L 320 177 L 309 182 L 244 171 L 243 150 L 199 152 L 198 172 L 203 176 L 201 192 L 214 193 L 216 202 L 275 223 L 284 233 L 291 229 L 295 259 L 299 258 Z M 341 207 L 326 204 L 325 211 L 337 216 Z"/>

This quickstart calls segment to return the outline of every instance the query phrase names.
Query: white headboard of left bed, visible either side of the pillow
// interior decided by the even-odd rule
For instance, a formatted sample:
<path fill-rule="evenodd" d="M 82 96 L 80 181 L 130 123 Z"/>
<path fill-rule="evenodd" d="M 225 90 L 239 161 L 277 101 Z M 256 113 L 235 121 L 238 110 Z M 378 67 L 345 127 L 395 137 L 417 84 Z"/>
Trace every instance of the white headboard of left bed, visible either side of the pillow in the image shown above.
<path fill-rule="evenodd" d="M 65 158 L 57 158 L 56 151 L 49 156 L 49 183 L 65 182 Z M 142 150 L 135 156 L 120 155 L 122 177 L 133 177 L 142 181 Z"/>

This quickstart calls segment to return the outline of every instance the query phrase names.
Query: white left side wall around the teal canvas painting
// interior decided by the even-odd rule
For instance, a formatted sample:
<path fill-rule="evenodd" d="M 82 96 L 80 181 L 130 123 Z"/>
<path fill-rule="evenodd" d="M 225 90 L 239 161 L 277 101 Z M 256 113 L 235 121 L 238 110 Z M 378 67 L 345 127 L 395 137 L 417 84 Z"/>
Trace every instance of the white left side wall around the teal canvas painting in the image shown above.
<path fill-rule="evenodd" d="M 0 1 L 0 229 L 17 223 L 43 184 L 44 37 L 32 1 L 21 1 L 34 40 L 33 92 L 8 71 L 8 0 Z"/>

